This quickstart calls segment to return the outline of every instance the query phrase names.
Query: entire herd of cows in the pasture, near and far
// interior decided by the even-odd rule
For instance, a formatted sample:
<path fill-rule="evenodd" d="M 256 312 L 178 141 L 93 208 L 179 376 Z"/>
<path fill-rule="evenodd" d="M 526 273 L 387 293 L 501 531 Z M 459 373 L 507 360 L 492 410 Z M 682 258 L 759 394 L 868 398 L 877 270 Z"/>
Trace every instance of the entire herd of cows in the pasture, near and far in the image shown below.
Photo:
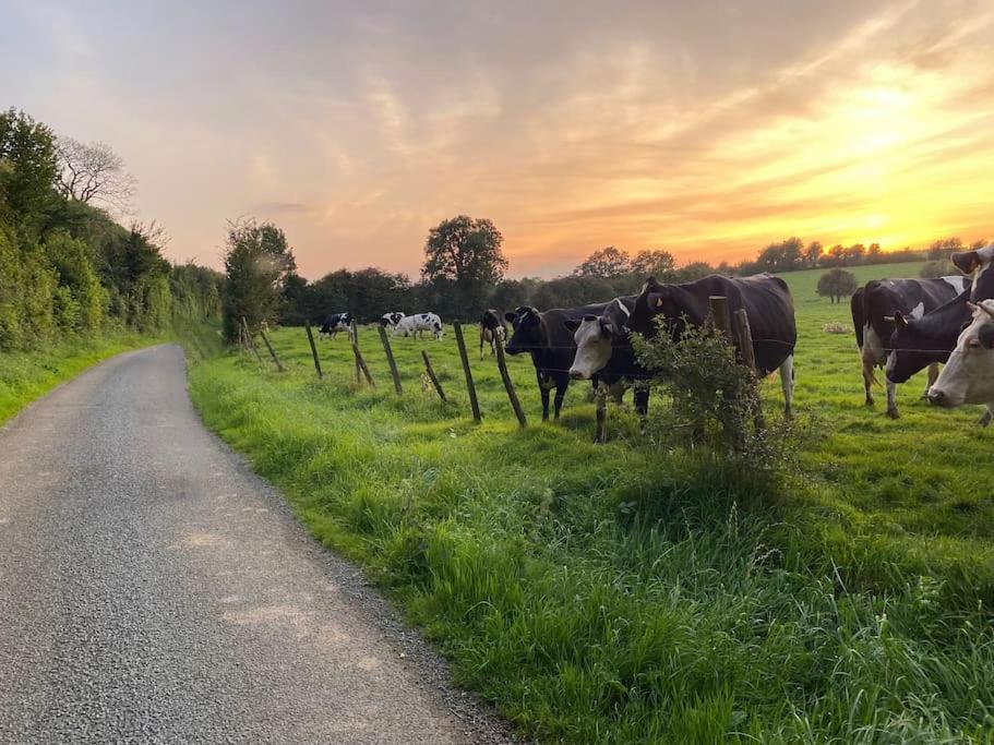
<path fill-rule="evenodd" d="M 875 370 L 884 368 L 887 414 L 897 418 L 896 386 L 929 368 L 929 400 L 944 407 L 984 404 L 987 412 L 981 423 L 986 425 L 994 413 L 994 243 L 954 253 L 951 259 L 966 276 L 873 280 L 852 296 L 866 404 L 874 402 Z M 615 397 L 647 380 L 650 372 L 635 356 L 631 332 L 651 338 L 664 329 L 679 338 L 687 324 L 707 321 L 712 296 L 726 297 L 730 313 L 745 310 L 757 372 L 765 376 L 779 371 L 790 416 L 798 339 L 793 300 L 787 284 L 768 274 L 711 275 L 673 285 L 650 277 L 639 295 L 607 303 L 547 311 L 524 305 L 506 313 L 490 309 L 480 319 L 480 356 L 484 345 L 492 353 L 505 343 L 508 355 L 530 355 L 542 420 L 549 418 L 553 390 L 552 414 L 558 419 L 572 380 L 590 380 L 595 389 L 603 386 Z M 380 325 L 394 335 L 420 337 L 427 332 L 436 339 L 443 335 L 435 313 L 385 313 Z M 335 313 L 323 320 L 320 336 L 350 334 L 351 327 L 350 313 Z M 941 373 L 939 363 L 948 363 Z M 649 387 L 636 386 L 635 409 L 643 417 L 648 401 Z"/>

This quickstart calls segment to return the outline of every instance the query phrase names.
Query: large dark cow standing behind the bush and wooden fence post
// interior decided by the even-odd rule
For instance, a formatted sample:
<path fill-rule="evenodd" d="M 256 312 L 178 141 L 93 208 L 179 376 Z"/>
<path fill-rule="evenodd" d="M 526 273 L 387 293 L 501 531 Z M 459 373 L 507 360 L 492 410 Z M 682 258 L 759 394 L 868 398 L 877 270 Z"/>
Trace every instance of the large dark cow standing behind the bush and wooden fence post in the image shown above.
<path fill-rule="evenodd" d="M 754 277 L 722 277 L 712 274 L 681 285 L 661 285 L 655 277 L 649 277 L 625 325 L 645 337 L 651 337 L 656 335 L 655 319 L 662 315 L 670 335 L 680 338 L 687 323 L 699 326 L 707 320 L 710 314 L 708 299 L 711 296 L 728 298 L 731 314 L 745 309 L 756 372 L 763 377 L 774 370 L 780 371 L 785 412 L 790 416 L 798 327 L 790 289 L 779 277 L 769 274 Z"/>

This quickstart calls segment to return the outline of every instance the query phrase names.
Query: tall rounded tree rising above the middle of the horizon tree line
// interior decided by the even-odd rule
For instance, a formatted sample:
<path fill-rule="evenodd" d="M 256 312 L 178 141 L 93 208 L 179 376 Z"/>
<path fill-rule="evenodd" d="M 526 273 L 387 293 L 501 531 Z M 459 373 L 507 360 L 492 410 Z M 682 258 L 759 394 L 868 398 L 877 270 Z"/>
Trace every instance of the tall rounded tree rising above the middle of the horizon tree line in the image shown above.
<path fill-rule="evenodd" d="M 507 271 L 501 251 L 504 237 L 488 219 L 459 215 L 443 220 L 428 233 L 421 276 L 439 288 L 455 290 L 446 298 L 464 313 L 475 316 Z"/>

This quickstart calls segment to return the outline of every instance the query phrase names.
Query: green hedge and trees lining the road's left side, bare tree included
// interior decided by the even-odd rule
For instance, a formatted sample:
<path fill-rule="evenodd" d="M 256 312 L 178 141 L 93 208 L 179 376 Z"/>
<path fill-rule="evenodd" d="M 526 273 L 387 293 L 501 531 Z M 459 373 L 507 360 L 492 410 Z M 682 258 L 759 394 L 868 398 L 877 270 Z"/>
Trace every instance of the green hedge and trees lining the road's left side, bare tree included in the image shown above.
<path fill-rule="evenodd" d="M 223 275 L 172 266 L 160 227 L 115 219 L 134 193 L 108 145 L 0 111 L 0 350 L 67 334 L 158 332 L 219 313 Z"/>

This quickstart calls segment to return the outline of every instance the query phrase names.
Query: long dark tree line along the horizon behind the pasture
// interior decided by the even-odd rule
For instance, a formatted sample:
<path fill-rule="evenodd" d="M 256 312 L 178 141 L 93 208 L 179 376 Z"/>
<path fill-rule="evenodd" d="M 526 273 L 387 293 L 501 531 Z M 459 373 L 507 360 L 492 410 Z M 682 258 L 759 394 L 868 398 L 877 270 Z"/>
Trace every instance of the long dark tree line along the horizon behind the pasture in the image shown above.
<path fill-rule="evenodd" d="M 788 238 L 762 249 L 755 259 L 738 264 L 695 261 L 683 265 L 662 249 L 631 254 L 606 247 L 587 256 L 568 275 L 554 279 L 505 278 L 507 261 L 502 245 L 503 237 L 493 223 L 460 215 L 429 231 L 421 274 L 416 281 L 405 274 L 375 267 L 337 269 L 315 281 L 307 281 L 289 267 L 278 283 L 279 312 L 274 319 L 287 325 L 300 325 L 304 321 L 320 322 L 327 313 L 348 310 L 358 322 L 369 323 L 384 312 L 396 310 L 434 311 L 446 320 L 471 321 L 491 307 L 570 308 L 635 295 L 649 276 L 663 283 L 681 283 L 709 274 L 747 276 L 922 260 L 930 260 L 923 272 L 954 274 L 945 271 L 947 265 L 951 266 L 948 255 L 962 249 L 963 243 L 958 238 L 947 238 L 923 250 L 905 248 L 885 252 L 878 243 L 833 245 L 825 250 L 818 241 L 805 243 L 800 238 Z M 833 277 L 837 281 L 830 288 L 826 286 L 828 297 L 851 295 L 847 290 L 848 280 L 837 273 Z"/>

